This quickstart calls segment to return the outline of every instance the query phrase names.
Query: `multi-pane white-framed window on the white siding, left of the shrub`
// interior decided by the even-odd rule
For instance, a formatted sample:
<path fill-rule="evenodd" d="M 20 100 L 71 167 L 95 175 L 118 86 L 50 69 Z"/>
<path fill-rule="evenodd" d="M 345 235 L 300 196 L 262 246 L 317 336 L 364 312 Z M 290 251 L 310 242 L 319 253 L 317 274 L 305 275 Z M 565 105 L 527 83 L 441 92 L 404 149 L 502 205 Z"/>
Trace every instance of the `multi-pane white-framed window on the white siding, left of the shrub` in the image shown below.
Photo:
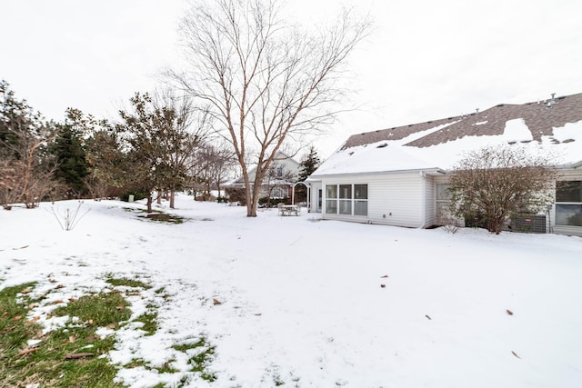
<path fill-rule="evenodd" d="M 327 184 L 326 213 L 367 215 L 367 184 Z"/>

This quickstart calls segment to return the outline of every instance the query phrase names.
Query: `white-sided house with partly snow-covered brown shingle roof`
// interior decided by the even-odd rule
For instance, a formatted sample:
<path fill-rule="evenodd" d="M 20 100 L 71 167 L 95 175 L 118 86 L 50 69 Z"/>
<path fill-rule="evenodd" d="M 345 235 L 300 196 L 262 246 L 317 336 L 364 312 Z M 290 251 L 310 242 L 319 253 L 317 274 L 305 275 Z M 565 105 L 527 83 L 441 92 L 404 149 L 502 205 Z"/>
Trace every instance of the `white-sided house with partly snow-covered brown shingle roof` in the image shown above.
<path fill-rule="evenodd" d="M 546 230 L 582 235 L 582 94 L 354 134 L 307 178 L 310 211 L 324 219 L 437 225 L 452 167 L 463 151 L 487 144 L 557 154 Z"/>

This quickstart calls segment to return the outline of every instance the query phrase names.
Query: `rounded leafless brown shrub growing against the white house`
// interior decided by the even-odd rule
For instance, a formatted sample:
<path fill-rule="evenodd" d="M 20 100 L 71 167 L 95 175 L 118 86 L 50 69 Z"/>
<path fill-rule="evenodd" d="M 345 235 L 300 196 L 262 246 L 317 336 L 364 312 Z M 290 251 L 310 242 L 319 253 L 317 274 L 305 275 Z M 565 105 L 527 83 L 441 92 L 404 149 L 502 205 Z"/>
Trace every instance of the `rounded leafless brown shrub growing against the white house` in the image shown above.
<path fill-rule="evenodd" d="M 556 177 L 546 155 L 518 146 L 487 146 L 465 154 L 450 179 L 457 216 L 476 214 L 487 230 L 499 234 L 507 217 L 537 212 L 551 203 Z"/>

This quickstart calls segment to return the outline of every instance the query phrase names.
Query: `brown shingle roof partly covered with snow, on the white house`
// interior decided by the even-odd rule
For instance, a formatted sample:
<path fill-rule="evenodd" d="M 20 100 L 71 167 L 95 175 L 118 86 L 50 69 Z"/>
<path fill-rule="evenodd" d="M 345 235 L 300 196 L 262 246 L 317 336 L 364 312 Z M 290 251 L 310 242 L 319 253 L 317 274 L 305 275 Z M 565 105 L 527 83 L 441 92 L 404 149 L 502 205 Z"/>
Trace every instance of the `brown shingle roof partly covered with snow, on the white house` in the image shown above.
<path fill-rule="evenodd" d="M 551 153 L 556 163 L 582 161 L 582 94 L 354 134 L 312 177 L 450 169 L 465 151 L 514 144 Z"/>

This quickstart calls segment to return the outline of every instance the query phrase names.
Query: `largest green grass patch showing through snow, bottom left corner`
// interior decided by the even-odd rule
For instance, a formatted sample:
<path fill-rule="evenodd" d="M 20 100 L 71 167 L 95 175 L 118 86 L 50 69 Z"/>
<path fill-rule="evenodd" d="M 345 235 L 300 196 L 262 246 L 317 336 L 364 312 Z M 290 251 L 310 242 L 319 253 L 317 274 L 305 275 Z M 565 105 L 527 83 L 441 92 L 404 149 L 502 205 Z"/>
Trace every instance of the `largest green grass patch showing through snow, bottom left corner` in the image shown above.
<path fill-rule="evenodd" d="M 119 387 L 114 383 L 117 372 L 106 358 L 113 350 L 113 336 L 101 339 L 98 327 L 115 328 L 129 319 L 128 303 L 120 293 L 86 295 L 55 309 L 55 316 L 76 316 L 64 328 L 41 335 L 41 327 L 25 319 L 33 301 L 21 293 L 34 284 L 22 284 L 0 291 L 0 381 L 5 386 L 40 383 L 43 387 Z M 17 297 L 18 293 L 22 296 Z M 29 347 L 28 340 L 40 340 Z M 80 353 L 85 354 L 78 357 Z"/>

